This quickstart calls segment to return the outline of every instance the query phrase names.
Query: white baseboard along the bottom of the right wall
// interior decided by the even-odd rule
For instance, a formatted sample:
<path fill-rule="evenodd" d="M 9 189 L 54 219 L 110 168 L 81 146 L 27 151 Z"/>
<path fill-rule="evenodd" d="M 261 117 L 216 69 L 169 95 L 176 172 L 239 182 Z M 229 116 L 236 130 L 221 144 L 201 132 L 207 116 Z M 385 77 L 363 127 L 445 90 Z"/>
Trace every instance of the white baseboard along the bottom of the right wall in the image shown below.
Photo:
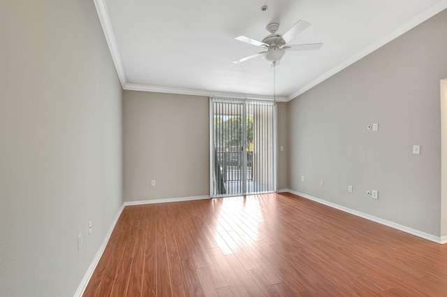
<path fill-rule="evenodd" d="M 342 210 L 344 212 L 348 212 L 351 215 L 356 215 L 356 216 L 362 217 L 364 219 L 369 219 L 369 221 L 376 222 L 376 223 L 379 223 L 379 224 L 382 224 L 382 225 L 385 225 L 385 226 L 388 226 L 388 227 L 391 227 L 391 228 L 394 228 L 394 229 L 397 229 L 397 230 L 400 230 L 400 231 L 404 231 L 404 232 L 409 233 L 409 234 L 411 234 L 413 236 L 418 236 L 420 238 L 424 238 L 424 239 L 427 239 L 427 240 L 430 240 L 430 241 L 433 241 L 433 242 L 437 242 L 437 243 L 441 243 L 441 244 L 447 243 L 447 236 L 444 236 L 444 237 L 434 236 L 432 234 L 425 233 L 423 231 L 412 229 L 412 228 L 409 228 L 407 226 L 404 226 L 404 225 L 401 225 L 401 224 L 397 224 L 395 222 L 390 222 L 390 221 L 387 221 L 386 219 L 381 219 L 380 217 L 374 217 L 374 215 L 368 215 L 365 212 L 359 212 L 358 210 L 353 210 L 351 208 L 346 208 L 346 207 L 344 207 L 342 205 L 338 205 L 338 204 L 335 204 L 335 203 L 332 203 L 332 202 L 329 202 L 329 201 L 325 201 L 323 199 L 316 198 L 314 196 L 309 196 L 307 194 L 303 194 L 303 193 L 300 193 L 298 191 L 293 191 L 291 189 L 284 189 L 284 191 L 288 191 L 291 194 L 295 194 L 297 196 L 300 196 L 300 197 L 303 197 L 303 198 L 306 198 L 306 199 L 309 199 L 309 200 L 312 200 L 312 201 L 315 201 L 315 202 L 318 202 L 318 203 L 330 206 L 331 208 L 336 208 L 337 210 Z"/>

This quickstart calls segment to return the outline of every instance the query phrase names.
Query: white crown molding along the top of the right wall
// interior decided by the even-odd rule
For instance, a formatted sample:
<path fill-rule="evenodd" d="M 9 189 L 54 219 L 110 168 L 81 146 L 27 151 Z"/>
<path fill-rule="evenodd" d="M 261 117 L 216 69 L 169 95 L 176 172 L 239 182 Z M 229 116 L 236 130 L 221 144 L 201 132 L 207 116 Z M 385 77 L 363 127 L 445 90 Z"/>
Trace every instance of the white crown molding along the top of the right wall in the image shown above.
<path fill-rule="evenodd" d="M 373 43 L 372 45 L 368 46 L 364 50 L 358 52 L 356 55 L 353 55 L 349 59 L 346 59 L 341 64 L 338 64 L 334 68 L 330 69 L 330 71 L 323 73 L 323 75 L 320 75 L 315 80 L 312 80 L 312 82 L 309 82 L 304 87 L 298 89 L 298 91 L 293 92 L 291 95 L 289 95 L 287 97 L 287 101 L 291 101 L 292 99 L 295 99 L 296 97 L 300 96 L 301 94 L 308 91 L 309 89 L 312 89 L 312 87 L 315 87 L 319 83 L 330 78 L 332 75 L 339 73 L 339 71 L 342 71 L 344 68 L 351 66 L 356 61 L 358 61 L 358 60 L 362 59 L 363 57 L 366 57 L 370 53 L 374 52 L 374 50 L 381 48 L 383 45 L 386 45 L 386 43 L 393 41 L 395 38 L 401 36 L 402 34 L 406 33 L 407 31 L 418 26 L 418 24 L 425 22 L 426 20 L 430 19 L 430 17 L 433 17 L 434 15 L 436 15 L 437 13 L 440 13 L 442 10 L 444 10 L 446 8 L 447 8 L 447 0 L 439 1 L 437 4 L 435 4 L 434 6 L 431 6 L 430 8 L 425 10 L 423 13 L 420 13 L 420 14 L 416 15 L 416 17 L 413 17 L 411 20 L 409 20 L 408 22 L 403 24 L 398 29 L 391 31 L 390 34 L 384 36 L 376 43 Z"/>

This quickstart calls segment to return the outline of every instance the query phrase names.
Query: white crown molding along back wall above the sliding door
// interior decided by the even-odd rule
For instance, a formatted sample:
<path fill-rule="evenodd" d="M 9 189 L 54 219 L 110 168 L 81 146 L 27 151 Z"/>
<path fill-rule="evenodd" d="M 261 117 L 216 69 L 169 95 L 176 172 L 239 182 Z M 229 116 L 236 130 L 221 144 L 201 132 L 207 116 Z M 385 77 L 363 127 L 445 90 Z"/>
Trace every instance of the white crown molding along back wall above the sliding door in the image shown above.
<path fill-rule="evenodd" d="M 175 87 L 158 87 L 151 85 L 138 85 L 127 83 L 124 85 L 123 89 L 131 91 L 142 91 L 142 92 L 154 92 L 154 93 L 169 93 L 169 94 L 182 94 L 182 95 L 193 95 L 193 96 L 207 96 L 207 97 L 230 97 L 230 98 L 240 98 L 240 99 L 256 99 L 256 100 L 268 100 L 273 101 L 273 96 L 265 95 L 253 95 L 253 94 L 243 94 L 243 93 L 230 93 L 230 92 L 214 92 L 207 91 L 203 89 L 181 89 Z M 277 96 L 276 101 L 286 102 L 288 101 L 286 97 Z"/>

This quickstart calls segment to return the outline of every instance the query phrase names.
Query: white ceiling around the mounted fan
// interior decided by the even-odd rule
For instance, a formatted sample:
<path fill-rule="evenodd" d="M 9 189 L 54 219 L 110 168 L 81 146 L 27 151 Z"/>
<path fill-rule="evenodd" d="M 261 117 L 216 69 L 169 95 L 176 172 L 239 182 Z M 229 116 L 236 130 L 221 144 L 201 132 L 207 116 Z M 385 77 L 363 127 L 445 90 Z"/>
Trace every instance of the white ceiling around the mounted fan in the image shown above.
<path fill-rule="evenodd" d="M 124 89 L 271 99 L 273 68 L 261 41 L 270 22 L 283 34 L 298 20 L 311 26 L 276 68 L 277 100 L 289 101 L 369 52 L 447 8 L 447 0 L 95 0 Z M 261 6 L 268 10 L 262 11 Z"/>

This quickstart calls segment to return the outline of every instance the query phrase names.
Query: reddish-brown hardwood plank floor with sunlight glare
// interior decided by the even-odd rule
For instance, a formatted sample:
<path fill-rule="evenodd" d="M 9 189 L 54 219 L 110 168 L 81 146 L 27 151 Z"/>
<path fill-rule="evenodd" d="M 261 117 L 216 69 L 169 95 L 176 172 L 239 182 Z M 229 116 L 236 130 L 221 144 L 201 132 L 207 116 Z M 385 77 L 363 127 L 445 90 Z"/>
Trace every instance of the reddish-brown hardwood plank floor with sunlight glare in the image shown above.
<path fill-rule="evenodd" d="M 447 296 L 447 245 L 292 194 L 127 206 L 83 296 Z"/>

